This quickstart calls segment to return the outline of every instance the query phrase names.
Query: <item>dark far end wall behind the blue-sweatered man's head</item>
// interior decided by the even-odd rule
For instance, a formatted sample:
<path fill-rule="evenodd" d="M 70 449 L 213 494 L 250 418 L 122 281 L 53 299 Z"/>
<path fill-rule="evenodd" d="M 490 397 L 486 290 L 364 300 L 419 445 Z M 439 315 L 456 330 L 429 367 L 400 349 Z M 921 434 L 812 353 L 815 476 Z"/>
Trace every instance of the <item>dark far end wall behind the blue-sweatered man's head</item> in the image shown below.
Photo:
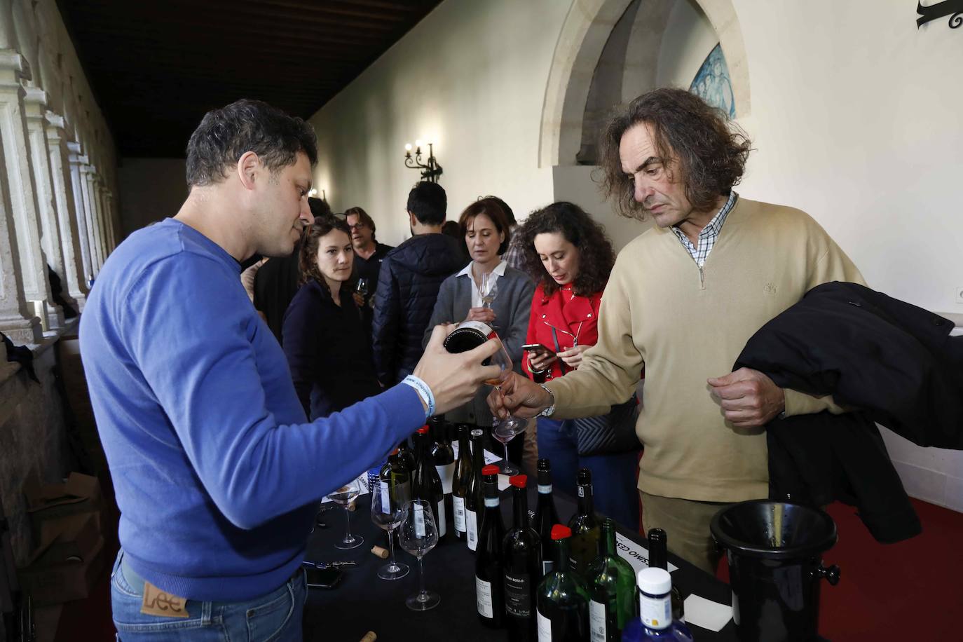
<path fill-rule="evenodd" d="M 187 161 L 125 158 L 117 167 L 123 235 L 177 214 L 187 198 Z"/>

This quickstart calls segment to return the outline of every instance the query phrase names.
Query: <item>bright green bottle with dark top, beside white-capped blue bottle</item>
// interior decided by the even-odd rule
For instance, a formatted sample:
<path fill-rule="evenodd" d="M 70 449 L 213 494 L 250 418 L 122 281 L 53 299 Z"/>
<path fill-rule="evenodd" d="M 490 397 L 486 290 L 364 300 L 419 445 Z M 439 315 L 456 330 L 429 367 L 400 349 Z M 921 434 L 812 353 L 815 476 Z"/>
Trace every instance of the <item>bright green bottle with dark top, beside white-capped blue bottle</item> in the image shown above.
<path fill-rule="evenodd" d="M 618 556 L 615 522 L 602 520 L 602 552 L 588 566 L 588 621 L 591 642 L 619 642 L 636 616 L 636 572 Z"/>

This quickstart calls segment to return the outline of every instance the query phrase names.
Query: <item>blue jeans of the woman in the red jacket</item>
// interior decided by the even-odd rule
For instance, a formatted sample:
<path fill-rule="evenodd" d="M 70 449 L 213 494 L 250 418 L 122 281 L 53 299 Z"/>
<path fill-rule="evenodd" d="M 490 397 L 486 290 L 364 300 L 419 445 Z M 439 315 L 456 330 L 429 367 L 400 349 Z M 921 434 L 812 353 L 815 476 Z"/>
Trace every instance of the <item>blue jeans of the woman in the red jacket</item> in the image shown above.
<path fill-rule="evenodd" d="M 571 420 L 538 419 L 538 456 L 552 461 L 552 484 L 576 497 L 575 475 L 592 473 L 595 509 L 638 532 L 638 452 L 580 455 Z"/>

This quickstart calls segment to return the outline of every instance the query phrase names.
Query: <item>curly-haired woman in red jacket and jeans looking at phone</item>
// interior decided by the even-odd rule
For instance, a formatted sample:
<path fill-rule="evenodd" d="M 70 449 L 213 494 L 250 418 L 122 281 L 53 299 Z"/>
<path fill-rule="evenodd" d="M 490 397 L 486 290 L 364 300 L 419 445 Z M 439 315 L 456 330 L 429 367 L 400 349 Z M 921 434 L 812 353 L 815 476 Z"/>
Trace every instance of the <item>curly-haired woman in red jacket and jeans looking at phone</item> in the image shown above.
<path fill-rule="evenodd" d="M 612 242 L 578 205 L 552 203 L 518 230 L 526 270 L 536 283 L 522 360 L 536 382 L 578 370 L 598 341 L 598 312 L 615 263 Z M 555 483 L 574 496 L 578 469 L 592 472 L 595 504 L 620 524 L 638 529 L 638 452 L 580 454 L 573 420 L 538 420 L 538 456 L 552 461 Z"/>

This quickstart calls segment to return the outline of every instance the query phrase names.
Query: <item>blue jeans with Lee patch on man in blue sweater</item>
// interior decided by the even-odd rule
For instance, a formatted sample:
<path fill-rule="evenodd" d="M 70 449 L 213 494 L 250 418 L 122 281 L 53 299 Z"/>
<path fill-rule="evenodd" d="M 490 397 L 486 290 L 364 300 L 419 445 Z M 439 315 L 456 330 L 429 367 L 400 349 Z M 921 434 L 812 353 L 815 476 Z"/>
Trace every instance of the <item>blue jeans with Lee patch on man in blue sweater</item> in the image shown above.
<path fill-rule="evenodd" d="M 111 603 L 118 640 L 300 642 L 301 615 L 307 599 L 303 572 L 260 598 L 247 602 L 189 600 L 186 608 L 190 617 L 169 618 L 141 612 L 143 578 L 121 564 L 122 559 L 121 549 L 111 573 Z"/>

